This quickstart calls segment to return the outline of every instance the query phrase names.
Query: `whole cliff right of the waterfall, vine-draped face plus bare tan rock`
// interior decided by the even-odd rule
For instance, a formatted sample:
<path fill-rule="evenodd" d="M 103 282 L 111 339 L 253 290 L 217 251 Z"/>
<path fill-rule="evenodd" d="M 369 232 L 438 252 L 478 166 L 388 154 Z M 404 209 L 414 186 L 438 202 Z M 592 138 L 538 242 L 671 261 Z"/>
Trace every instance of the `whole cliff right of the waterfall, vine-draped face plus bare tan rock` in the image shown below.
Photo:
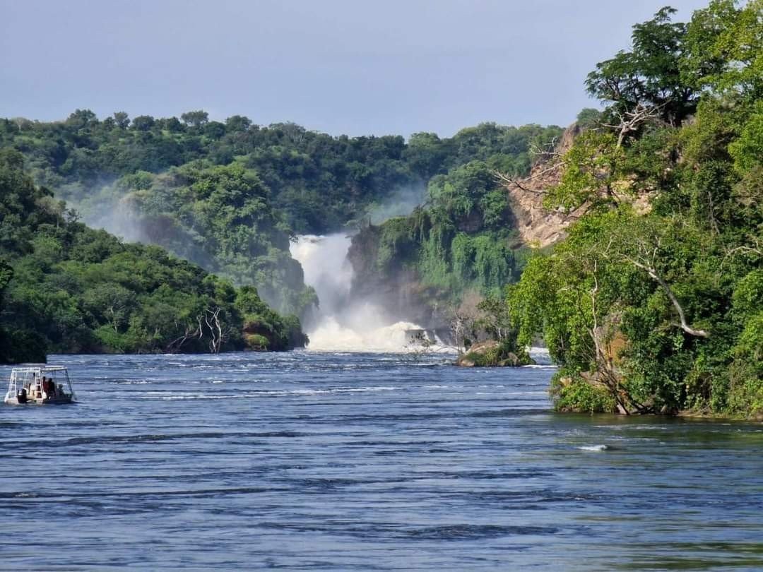
<path fill-rule="evenodd" d="M 497 274 L 498 265 L 489 266 L 495 259 L 507 261 L 512 272 L 491 284 L 493 291 L 515 281 L 521 251 L 564 238 L 565 229 L 580 214 L 547 210 L 542 204 L 546 190 L 559 184 L 562 156 L 578 133 L 576 125 L 568 127 L 552 152 L 540 156 L 525 178 L 514 180 L 492 172 L 484 163 L 472 166 L 460 178 L 449 180 L 451 187 L 439 189 L 439 203 L 432 201 L 407 218 L 363 227 L 353 236 L 348 252 L 354 271 L 353 300 L 374 300 L 390 321 L 446 329 L 453 304 L 464 291 L 474 290 L 480 297 L 485 294 L 488 288 L 475 284 L 474 275 Z M 503 207 L 497 206 L 502 201 L 496 179 L 505 191 Z M 460 207 L 458 201 L 468 208 Z M 433 272 L 433 266 L 439 274 Z"/>

